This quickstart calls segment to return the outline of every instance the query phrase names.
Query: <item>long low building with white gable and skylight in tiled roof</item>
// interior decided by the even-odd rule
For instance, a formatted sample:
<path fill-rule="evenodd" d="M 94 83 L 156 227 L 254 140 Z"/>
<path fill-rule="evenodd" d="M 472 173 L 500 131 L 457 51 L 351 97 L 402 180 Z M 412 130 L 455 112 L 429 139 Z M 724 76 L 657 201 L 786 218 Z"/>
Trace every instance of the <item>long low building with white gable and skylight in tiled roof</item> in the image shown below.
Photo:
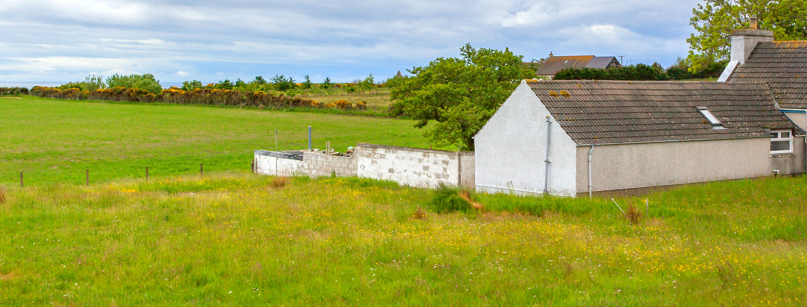
<path fill-rule="evenodd" d="M 764 83 L 522 81 L 475 136 L 475 187 L 573 197 L 805 172 L 804 135 Z"/>

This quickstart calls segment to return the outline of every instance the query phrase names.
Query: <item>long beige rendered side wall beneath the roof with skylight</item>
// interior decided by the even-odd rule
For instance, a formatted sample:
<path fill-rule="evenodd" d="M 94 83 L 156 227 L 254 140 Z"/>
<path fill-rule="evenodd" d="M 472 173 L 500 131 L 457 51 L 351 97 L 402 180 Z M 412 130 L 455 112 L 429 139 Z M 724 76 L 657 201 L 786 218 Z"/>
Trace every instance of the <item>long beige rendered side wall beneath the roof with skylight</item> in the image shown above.
<path fill-rule="evenodd" d="M 577 147 L 577 190 L 588 192 L 589 146 Z M 769 138 L 595 146 L 592 191 L 770 176 Z"/>

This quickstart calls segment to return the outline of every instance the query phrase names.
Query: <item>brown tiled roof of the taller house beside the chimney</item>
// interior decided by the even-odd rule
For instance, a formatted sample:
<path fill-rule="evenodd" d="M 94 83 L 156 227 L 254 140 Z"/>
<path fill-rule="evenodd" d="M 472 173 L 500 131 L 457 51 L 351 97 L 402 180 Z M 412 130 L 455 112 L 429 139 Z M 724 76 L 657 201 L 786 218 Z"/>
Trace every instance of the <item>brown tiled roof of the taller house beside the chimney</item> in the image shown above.
<path fill-rule="evenodd" d="M 807 40 L 759 42 L 729 81 L 767 82 L 782 108 L 807 109 Z"/>

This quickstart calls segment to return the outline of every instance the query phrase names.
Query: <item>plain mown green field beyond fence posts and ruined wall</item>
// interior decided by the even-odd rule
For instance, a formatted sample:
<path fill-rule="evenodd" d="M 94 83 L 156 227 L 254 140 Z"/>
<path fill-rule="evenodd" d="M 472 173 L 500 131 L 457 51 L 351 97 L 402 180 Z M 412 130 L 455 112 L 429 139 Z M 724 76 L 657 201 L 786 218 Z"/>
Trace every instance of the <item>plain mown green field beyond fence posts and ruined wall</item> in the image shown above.
<path fill-rule="evenodd" d="M 37 97 L 0 99 L 0 182 L 82 183 L 198 173 L 249 172 L 255 149 L 307 148 L 331 141 L 337 151 L 356 143 L 429 147 L 412 122 L 295 111 L 209 106 L 76 102 Z"/>

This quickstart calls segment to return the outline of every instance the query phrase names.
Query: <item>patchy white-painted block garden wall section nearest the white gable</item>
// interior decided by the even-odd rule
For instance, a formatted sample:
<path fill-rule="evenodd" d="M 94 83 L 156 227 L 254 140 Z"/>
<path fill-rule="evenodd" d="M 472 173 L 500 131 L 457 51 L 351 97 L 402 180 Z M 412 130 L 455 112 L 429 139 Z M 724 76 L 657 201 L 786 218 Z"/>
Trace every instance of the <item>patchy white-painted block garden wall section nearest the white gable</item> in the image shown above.
<path fill-rule="evenodd" d="M 360 177 L 392 180 L 401 185 L 435 188 L 474 186 L 474 152 L 438 151 L 360 143 L 355 147 Z"/>

